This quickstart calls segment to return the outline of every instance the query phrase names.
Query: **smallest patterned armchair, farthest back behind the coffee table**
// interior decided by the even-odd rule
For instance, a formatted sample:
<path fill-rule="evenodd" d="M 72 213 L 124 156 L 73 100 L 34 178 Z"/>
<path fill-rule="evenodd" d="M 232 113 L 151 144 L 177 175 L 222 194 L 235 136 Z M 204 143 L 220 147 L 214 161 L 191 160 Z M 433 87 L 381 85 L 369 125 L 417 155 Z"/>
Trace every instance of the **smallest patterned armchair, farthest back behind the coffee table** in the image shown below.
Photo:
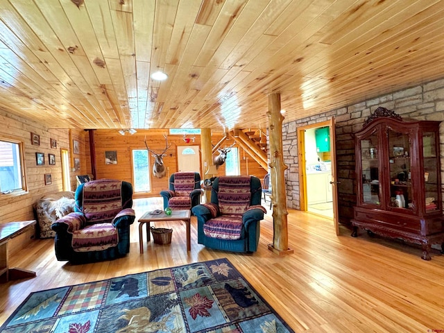
<path fill-rule="evenodd" d="M 160 192 L 164 198 L 164 209 L 189 210 L 200 203 L 200 174 L 198 172 L 176 172 L 169 178 L 169 189 Z"/>

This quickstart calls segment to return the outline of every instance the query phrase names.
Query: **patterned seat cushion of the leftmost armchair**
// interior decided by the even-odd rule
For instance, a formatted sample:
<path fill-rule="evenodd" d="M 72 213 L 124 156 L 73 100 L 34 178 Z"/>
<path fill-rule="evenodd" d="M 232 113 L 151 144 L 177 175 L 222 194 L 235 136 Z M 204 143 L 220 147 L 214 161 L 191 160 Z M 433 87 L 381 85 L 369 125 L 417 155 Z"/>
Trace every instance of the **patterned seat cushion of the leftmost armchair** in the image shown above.
<path fill-rule="evenodd" d="M 119 233 L 112 223 L 88 225 L 72 234 L 72 248 L 76 252 L 106 250 L 118 243 Z"/>

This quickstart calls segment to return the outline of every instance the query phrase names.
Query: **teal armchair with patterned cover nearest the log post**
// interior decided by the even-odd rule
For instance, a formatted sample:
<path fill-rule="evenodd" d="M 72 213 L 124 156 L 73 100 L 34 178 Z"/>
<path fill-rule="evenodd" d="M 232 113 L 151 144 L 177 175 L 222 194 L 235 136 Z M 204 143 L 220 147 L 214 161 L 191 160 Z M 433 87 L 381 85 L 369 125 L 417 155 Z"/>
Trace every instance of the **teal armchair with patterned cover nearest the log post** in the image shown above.
<path fill-rule="evenodd" d="M 232 252 L 257 250 L 259 222 L 266 213 L 261 197 L 261 181 L 255 176 L 216 178 L 211 202 L 191 210 L 197 216 L 198 244 Z"/>

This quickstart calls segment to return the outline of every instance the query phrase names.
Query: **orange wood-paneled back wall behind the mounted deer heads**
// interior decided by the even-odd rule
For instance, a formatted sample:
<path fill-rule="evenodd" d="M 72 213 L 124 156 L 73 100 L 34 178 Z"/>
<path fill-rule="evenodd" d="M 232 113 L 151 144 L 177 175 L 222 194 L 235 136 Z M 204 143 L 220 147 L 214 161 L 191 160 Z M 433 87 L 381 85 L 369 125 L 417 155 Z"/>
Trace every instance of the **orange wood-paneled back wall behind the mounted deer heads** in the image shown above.
<path fill-rule="evenodd" d="M 96 178 L 117 178 L 127 182 L 133 182 L 132 166 L 131 166 L 131 150 L 146 149 L 144 139 L 148 147 L 156 153 L 161 153 L 165 148 L 164 134 L 167 130 L 138 130 L 134 135 L 119 135 L 117 130 L 96 130 L 94 133 L 96 147 Z M 168 144 L 171 146 L 164 157 L 164 164 L 167 167 L 167 176 L 164 178 L 155 178 L 153 173 L 151 176 L 151 191 L 141 196 L 151 197 L 159 196 L 162 189 L 168 188 L 168 180 L 171 173 L 178 171 L 177 146 L 198 145 L 200 146 L 200 135 L 196 135 L 194 142 L 185 143 L 182 135 L 168 135 Z M 223 137 L 223 133 L 213 133 L 212 144 L 217 144 Z M 87 137 L 85 137 L 85 141 Z M 232 142 L 229 142 L 231 144 Z M 227 144 L 228 145 L 228 144 Z M 85 146 L 89 149 L 88 142 Z M 236 146 L 234 146 L 236 147 Z M 248 174 L 264 178 L 266 170 L 264 170 L 248 153 L 239 148 L 239 161 L 241 174 Z M 105 164 L 105 151 L 117 151 L 117 164 Z M 244 159 L 245 157 L 245 159 Z M 150 154 L 150 166 L 153 167 L 154 157 Z M 248 167 L 247 167 L 248 163 Z M 87 173 L 91 173 L 90 165 L 87 166 Z M 225 164 L 219 167 L 218 175 L 225 175 Z M 200 177 L 203 178 L 204 170 L 200 170 Z"/>

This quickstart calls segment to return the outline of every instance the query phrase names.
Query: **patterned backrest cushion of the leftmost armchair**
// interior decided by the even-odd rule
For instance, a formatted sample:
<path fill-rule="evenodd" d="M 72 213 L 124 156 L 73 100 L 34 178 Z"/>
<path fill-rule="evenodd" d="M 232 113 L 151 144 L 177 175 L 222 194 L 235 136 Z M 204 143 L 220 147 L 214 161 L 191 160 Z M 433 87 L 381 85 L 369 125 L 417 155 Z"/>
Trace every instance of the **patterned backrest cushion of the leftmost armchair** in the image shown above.
<path fill-rule="evenodd" d="M 83 214 L 88 223 L 109 223 L 122 210 L 120 180 L 95 180 L 83 187 Z"/>

